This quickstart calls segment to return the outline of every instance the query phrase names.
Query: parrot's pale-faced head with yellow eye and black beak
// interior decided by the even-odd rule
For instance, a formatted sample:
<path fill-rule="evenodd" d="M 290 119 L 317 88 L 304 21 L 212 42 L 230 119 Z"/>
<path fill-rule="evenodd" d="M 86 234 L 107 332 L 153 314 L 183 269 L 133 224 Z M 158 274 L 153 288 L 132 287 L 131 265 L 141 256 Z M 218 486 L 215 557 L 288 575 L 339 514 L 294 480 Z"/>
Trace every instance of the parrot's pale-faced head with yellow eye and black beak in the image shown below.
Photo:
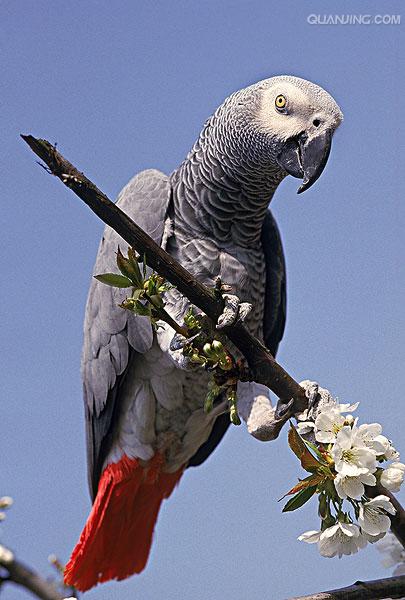
<path fill-rule="evenodd" d="M 324 170 L 332 136 L 343 119 L 332 96 L 310 81 L 281 75 L 245 88 L 236 97 L 245 110 L 249 137 L 253 133 L 260 148 L 261 164 L 267 161 L 280 178 L 302 179 L 298 193 L 307 190 Z"/>

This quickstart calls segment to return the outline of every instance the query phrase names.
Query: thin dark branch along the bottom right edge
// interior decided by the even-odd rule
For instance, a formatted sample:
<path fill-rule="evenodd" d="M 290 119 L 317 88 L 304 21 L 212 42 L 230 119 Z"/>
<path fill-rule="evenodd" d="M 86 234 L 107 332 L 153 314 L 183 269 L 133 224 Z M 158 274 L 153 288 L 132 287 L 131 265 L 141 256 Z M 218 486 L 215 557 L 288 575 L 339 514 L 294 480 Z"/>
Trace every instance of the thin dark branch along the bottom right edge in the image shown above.
<path fill-rule="evenodd" d="M 405 597 L 405 575 L 373 581 L 356 581 L 353 585 L 310 596 L 295 596 L 290 600 L 380 600 Z"/>

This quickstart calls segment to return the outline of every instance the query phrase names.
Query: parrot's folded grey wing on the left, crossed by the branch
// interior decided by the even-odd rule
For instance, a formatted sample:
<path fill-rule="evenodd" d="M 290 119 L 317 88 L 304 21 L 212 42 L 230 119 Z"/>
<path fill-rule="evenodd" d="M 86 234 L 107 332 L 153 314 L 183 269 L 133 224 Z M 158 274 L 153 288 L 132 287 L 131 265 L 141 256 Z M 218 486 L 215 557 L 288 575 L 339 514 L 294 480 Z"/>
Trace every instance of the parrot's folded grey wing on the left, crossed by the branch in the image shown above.
<path fill-rule="evenodd" d="M 169 203 L 169 178 L 153 169 L 131 179 L 117 200 L 117 205 L 158 244 L 164 237 Z M 128 244 L 113 229 L 106 227 L 94 275 L 117 272 L 118 246 L 124 251 Z M 149 350 L 153 341 L 148 317 L 118 306 L 124 297 L 123 290 L 92 279 L 84 322 L 82 378 L 89 485 L 93 498 L 111 444 L 114 411 L 128 363 L 135 353 Z"/>

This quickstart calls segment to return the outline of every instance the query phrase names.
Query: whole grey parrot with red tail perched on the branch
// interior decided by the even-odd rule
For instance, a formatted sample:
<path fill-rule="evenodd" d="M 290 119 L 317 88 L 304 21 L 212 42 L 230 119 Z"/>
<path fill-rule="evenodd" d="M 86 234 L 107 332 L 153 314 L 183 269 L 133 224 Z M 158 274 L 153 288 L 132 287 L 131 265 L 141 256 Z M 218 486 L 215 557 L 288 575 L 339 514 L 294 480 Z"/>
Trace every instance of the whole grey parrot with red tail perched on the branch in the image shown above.
<path fill-rule="evenodd" d="M 285 324 L 285 267 L 268 205 L 288 174 L 309 188 L 327 162 L 342 120 L 333 98 L 291 76 L 260 81 L 229 98 L 207 120 L 170 176 L 135 176 L 118 205 L 203 283 L 217 277 L 252 305 L 250 331 L 276 353 Z M 118 246 L 106 227 L 94 274 L 115 271 Z M 229 425 L 226 402 L 203 410 L 207 373 L 190 365 L 168 325 L 118 306 L 122 290 L 93 279 L 86 308 L 82 375 L 89 480 L 94 504 L 66 567 L 65 582 L 87 590 L 145 567 L 161 502 L 186 467 L 202 463 Z M 189 301 L 166 293 L 178 321 Z M 235 315 L 234 315 L 235 316 Z M 268 390 L 238 384 L 248 430 L 266 439 L 274 409 Z"/>

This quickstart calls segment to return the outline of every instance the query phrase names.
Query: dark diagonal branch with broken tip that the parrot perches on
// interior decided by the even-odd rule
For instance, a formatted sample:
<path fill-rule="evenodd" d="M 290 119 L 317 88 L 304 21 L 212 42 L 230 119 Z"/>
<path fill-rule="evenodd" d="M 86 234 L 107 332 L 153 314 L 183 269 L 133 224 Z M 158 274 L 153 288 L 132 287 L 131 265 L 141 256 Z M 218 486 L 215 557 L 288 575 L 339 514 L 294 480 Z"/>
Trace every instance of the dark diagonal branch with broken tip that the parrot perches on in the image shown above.
<path fill-rule="evenodd" d="M 48 167 L 49 173 L 58 177 L 69 187 L 104 223 L 112 227 L 130 246 L 146 256 L 148 265 L 177 287 L 192 304 L 198 306 L 212 321 L 216 322 L 222 312 L 222 301 L 213 290 L 200 283 L 170 254 L 158 246 L 140 227 L 138 227 L 118 206 L 101 192 L 83 173 L 66 160 L 52 144 L 46 140 L 22 135 Z M 282 426 L 296 412 L 308 405 L 303 388 L 276 362 L 269 350 L 252 336 L 241 322 L 226 328 L 225 333 L 241 351 L 251 369 L 254 381 L 270 388 L 280 399 L 273 425 L 273 439 Z M 405 547 L 405 511 L 399 502 L 381 485 L 367 488 L 369 496 L 384 494 L 389 496 L 396 508 L 391 516 L 391 529 Z"/>

